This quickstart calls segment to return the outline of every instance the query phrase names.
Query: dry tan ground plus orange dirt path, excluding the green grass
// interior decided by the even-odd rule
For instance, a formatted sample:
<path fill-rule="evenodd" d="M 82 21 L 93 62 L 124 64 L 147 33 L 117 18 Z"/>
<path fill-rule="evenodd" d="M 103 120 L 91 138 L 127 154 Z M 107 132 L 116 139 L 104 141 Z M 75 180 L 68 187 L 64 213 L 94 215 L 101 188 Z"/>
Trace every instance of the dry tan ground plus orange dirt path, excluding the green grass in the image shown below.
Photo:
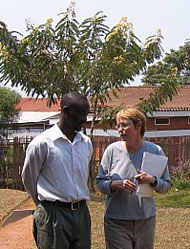
<path fill-rule="evenodd" d="M 18 208 L 31 209 L 27 194 L 0 189 L 0 220 Z M 24 201 L 26 200 L 26 201 Z M 19 203 L 24 201 L 20 206 Z M 92 216 L 92 249 L 105 249 L 103 235 L 102 197 L 93 196 L 89 202 Z M 190 208 L 158 208 L 155 249 L 190 249 Z M 31 216 L 0 228 L 1 249 L 36 249 L 32 237 Z"/>

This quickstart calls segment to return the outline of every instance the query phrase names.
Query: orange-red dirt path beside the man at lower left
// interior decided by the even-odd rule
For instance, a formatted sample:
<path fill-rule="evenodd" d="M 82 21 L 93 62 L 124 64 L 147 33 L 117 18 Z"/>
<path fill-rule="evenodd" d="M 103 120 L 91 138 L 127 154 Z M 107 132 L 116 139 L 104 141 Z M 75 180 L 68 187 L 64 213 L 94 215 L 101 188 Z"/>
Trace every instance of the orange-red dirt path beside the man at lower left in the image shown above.
<path fill-rule="evenodd" d="M 34 204 L 31 199 L 22 203 L 19 209 L 32 209 Z M 17 208 L 17 209 L 18 209 Z M 35 248 L 32 236 L 32 216 L 0 227 L 1 249 L 32 249 Z"/>

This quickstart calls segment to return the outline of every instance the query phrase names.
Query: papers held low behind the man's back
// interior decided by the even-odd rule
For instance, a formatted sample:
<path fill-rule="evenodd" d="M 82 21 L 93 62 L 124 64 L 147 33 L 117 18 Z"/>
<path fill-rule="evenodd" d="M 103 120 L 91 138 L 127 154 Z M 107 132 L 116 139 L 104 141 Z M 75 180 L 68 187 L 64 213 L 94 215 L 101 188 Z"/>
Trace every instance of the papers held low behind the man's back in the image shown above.
<path fill-rule="evenodd" d="M 14 210 L 7 218 L 4 220 L 2 226 L 6 226 L 11 222 L 15 222 L 17 220 L 21 220 L 29 215 L 34 213 L 34 209 L 30 210 Z"/>

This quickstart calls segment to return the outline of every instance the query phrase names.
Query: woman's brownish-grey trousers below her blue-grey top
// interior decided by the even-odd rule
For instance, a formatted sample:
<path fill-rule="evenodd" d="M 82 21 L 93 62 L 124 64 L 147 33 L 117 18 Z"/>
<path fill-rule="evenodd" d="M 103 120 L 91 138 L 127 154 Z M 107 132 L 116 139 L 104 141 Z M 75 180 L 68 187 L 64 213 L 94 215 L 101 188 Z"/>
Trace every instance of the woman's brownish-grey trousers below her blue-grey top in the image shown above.
<path fill-rule="evenodd" d="M 104 218 L 107 249 L 153 249 L 155 216 L 146 220 Z"/>

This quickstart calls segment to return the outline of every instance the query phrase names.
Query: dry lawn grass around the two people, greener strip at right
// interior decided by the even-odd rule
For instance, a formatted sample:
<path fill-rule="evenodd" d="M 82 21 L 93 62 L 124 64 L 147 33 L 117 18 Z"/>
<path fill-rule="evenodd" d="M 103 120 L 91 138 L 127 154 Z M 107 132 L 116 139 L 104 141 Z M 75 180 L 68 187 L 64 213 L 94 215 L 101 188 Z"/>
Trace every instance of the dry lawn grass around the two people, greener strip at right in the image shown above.
<path fill-rule="evenodd" d="M 4 192 L 4 193 L 3 193 Z M 24 200 L 25 193 L 15 190 L 0 190 L 0 210 L 12 210 L 13 204 Z M 190 190 L 171 190 L 157 195 L 157 225 L 155 249 L 190 248 Z M 92 249 L 105 249 L 103 232 L 104 198 L 95 194 L 88 203 L 92 217 Z M 6 208 L 5 208 L 6 207 Z M 7 213 L 8 211 L 6 211 Z M 2 212 L 0 213 L 0 219 Z M 30 248 L 36 249 L 36 247 Z"/>

